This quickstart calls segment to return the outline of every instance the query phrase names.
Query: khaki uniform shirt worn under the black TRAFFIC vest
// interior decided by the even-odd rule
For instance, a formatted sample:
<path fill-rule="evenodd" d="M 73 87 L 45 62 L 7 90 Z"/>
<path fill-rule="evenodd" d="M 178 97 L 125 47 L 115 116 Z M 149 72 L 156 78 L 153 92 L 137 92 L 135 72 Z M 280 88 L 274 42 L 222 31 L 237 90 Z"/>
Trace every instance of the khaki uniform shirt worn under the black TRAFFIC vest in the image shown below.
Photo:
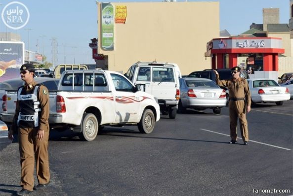
<path fill-rule="evenodd" d="M 28 85 L 24 85 L 24 88 L 26 91 L 30 91 L 31 89 L 34 88 L 34 86 L 37 85 L 37 82 L 35 80 L 33 80 L 30 84 Z M 48 130 L 48 126 L 49 126 L 49 111 L 50 111 L 50 106 L 49 106 L 49 91 L 47 89 L 47 87 L 41 85 L 40 87 L 40 91 L 39 91 L 39 95 L 38 98 L 40 100 L 40 107 L 42 109 L 41 111 L 41 116 L 39 116 L 39 130 L 44 130 L 47 131 Z M 16 102 L 16 108 L 15 108 L 15 115 L 13 118 L 13 122 L 11 125 L 10 130 L 17 131 L 16 127 L 17 124 L 15 124 L 17 122 L 17 118 L 18 118 L 18 114 L 19 114 L 19 103 L 18 100 Z"/>

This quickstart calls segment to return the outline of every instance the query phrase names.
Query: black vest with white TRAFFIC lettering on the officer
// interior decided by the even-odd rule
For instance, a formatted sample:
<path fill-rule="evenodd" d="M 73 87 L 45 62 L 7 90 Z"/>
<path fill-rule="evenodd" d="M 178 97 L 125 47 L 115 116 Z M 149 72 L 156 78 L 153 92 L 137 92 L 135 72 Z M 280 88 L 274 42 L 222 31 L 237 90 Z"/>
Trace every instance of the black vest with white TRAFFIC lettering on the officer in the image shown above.
<path fill-rule="evenodd" d="M 39 91 L 40 84 L 37 84 L 30 91 L 26 91 L 24 87 L 19 87 L 17 91 L 19 103 L 18 127 L 39 127 L 39 117 L 41 116 Z"/>

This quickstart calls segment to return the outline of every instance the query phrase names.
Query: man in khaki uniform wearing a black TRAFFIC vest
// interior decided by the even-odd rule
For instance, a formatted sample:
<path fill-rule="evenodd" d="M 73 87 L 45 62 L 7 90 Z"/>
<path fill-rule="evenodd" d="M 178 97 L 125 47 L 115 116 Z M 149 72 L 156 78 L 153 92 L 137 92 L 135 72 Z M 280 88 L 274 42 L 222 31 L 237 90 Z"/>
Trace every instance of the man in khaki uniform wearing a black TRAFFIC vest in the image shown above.
<path fill-rule="evenodd" d="M 34 80 L 35 67 L 24 64 L 20 67 L 24 86 L 17 91 L 15 115 L 8 137 L 18 131 L 21 164 L 22 190 L 18 196 L 28 195 L 34 190 L 45 188 L 50 182 L 48 138 L 49 138 L 49 95 L 48 89 Z M 34 159 L 35 158 L 35 159 Z M 34 163 L 39 185 L 34 187 Z"/>

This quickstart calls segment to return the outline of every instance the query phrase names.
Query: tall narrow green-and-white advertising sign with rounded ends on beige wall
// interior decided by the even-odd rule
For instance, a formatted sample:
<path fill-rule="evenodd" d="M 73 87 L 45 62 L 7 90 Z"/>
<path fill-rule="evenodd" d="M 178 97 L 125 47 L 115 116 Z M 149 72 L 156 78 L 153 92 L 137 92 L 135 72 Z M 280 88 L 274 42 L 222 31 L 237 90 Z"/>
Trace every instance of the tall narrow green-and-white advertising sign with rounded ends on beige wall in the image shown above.
<path fill-rule="evenodd" d="M 104 50 L 114 50 L 114 8 L 111 3 L 101 3 L 101 37 Z"/>

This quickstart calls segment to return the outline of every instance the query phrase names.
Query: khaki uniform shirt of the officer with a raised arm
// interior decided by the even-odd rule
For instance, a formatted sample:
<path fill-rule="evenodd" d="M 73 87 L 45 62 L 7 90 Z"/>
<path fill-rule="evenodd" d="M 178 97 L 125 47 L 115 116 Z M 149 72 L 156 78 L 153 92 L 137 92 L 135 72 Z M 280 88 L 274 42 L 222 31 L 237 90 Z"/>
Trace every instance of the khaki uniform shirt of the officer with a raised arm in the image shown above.
<path fill-rule="evenodd" d="M 245 98 L 247 106 L 251 106 L 251 93 L 246 79 L 238 78 L 236 81 L 233 79 L 219 80 L 217 76 L 216 83 L 219 86 L 228 88 L 230 98 Z"/>

